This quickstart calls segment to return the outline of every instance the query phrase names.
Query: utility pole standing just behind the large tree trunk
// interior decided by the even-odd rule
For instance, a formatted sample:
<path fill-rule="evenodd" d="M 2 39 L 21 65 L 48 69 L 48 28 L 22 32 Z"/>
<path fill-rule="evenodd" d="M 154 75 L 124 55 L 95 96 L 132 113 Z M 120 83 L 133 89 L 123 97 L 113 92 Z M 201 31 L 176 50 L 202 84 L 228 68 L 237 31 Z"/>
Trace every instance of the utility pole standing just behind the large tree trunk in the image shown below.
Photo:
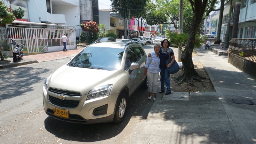
<path fill-rule="evenodd" d="M 183 33 L 183 0 L 180 0 L 180 21 L 179 21 L 179 34 Z M 182 44 L 179 44 L 180 47 L 178 49 L 178 62 L 182 62 L 181 52 L 182 52 Z"/>

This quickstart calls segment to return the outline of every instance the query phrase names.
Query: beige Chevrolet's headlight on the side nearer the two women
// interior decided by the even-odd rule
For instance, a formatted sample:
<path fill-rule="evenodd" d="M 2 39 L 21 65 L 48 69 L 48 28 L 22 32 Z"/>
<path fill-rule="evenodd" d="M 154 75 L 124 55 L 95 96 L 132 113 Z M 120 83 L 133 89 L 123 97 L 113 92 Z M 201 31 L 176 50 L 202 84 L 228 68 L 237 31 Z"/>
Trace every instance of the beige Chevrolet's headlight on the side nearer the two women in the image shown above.
<path fill-rule="evenodd" d="M 103 85 L 103 86 L 94 88 L 89 92 L 87 100 L 109 96 L 111 88 L 112 88 L 112 84 Z"/>

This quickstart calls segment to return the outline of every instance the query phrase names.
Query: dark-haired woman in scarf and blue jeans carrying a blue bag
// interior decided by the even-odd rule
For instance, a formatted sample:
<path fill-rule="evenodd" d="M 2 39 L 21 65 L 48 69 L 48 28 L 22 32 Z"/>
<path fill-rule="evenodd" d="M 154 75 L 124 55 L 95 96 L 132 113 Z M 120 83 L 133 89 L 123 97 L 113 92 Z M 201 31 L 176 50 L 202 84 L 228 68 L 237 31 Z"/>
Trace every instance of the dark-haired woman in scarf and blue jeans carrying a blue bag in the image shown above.
<path fill-rule="evenodd" d="M 166 86 L 166 92 L 164 93 L 165 95 L 169 95 L 172 93 L 171 90 L 171 80 L 170 80 L 170 73 L 168 72 L 167 68 L 170 68 L 170 66 L 172 65 L 172 63 L 175 60 L 175 56 L 174 56 L 174 52 L 171 48 L 169 48 L 171 45 L 171 43 L 167 40 L 164 39 L 161 42 L 161 49 L 159 51 L 160 55 L 160 82 L 161 82 L 161 90 L 159 93 L 163 93 L 164 92 L 164 84 Z M 151 54 L 148 54 L 148 57 L 151 57 Z M 168 60 L 169 58 L 172 58 L 171 63 L 168 63 L 166 65 L 166 60 Z"/>

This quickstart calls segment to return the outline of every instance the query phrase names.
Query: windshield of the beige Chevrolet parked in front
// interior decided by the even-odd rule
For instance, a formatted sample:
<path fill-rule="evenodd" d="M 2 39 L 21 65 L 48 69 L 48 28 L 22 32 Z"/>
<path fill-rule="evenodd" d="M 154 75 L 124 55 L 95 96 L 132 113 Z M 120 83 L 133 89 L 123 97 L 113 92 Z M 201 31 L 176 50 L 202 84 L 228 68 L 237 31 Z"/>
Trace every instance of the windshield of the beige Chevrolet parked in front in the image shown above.
<path fill-rule="evenodd" d="M 70 67 L 117 70 L 120 67 L 124 49 L 87 47 L 69 63 Z"/>

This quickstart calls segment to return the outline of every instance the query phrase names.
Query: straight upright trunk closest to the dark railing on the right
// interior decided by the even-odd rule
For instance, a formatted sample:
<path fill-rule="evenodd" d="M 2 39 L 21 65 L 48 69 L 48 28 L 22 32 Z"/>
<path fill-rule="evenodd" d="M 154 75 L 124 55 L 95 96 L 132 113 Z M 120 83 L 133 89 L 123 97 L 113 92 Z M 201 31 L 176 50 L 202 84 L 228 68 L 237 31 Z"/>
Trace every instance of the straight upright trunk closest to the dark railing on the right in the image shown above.
<path fill-rule="evenodd" d="M 237 38 L 240 5 L 241 5 L 240 0 L 236 0 L 235 12 L 234 12 L 234 22 L 233 22 L 233 29 L 232 29 L 232 38 Z"/>

